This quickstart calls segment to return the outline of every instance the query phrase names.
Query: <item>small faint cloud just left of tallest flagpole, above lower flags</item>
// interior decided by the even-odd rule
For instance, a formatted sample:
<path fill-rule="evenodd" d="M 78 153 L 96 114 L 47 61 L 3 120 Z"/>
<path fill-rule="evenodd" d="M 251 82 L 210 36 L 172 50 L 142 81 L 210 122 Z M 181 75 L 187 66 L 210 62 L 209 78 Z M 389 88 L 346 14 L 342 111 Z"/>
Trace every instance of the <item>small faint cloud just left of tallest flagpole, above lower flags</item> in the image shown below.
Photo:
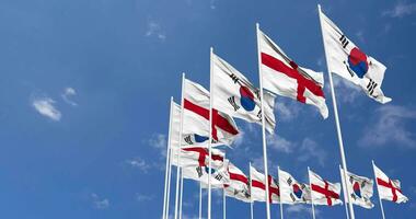
<path fill-rule="evenodd" d="M 301 146 L 300 146 L 300 152 L 298 160 L 305 162 L 305 161 L 311 161 L 315 160 L 320 165 L 324 165 L 325 159 L 326 159 L 326 152 L 323 150 L 316 141 L 305 138 L 303 139 Z"/>

